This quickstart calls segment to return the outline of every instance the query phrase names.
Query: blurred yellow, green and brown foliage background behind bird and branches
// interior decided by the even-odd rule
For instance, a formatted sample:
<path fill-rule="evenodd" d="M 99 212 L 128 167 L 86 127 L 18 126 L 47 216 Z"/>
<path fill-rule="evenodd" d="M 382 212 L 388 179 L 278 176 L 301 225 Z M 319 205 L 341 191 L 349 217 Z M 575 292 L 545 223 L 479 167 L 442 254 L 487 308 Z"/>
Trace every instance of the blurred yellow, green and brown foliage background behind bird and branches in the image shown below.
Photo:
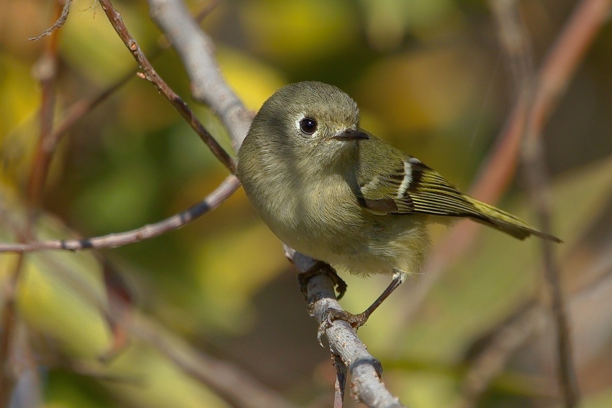
<path fill-rule="evenodd" d="M 149 19 L 146 2 L 113 4 L 157 72 L 231 150 L 220 121 L 190 98 L 181 61 Z M 187 4 L 194 15 L 214 6 L 203 29 L 215 42 L 226 80 L 249 109 L 256 111 L 275 89 L 294 81 L 335 84 L 359 104 L 362 127 L 463 190 L 476 179 L 513 109 L 517 92 L 487 1 Z M 521 2 L 536 66 L 577 4 Z M 0 0 L 2 242 L 19 242 L 28 208 L 37 214 L 27 227 L 37 239 L 91 237 L 159 221 L 217 187 L 227 171 L 154 86 L 135 75 L 135 61 L 99 4 L 73 2 L 56 45 L 51 37 L 28 42 L 57 13 L 53 1 Z M 44 56 L 53 47 L 57 76 L 48 94 L 54 125 L 75 103 L 130 79 L 63 135 L 42 199 L 32 207 L 26 191 L 46 103 Z M 610 50 L 612 26 L 606 23 L 543 130 L 553 232 L 564 240 L 555 253 L 581 406 L 588 408 L 612 406 Z M 496 204 L 537 225 L 525 186 L 519 163 Z M 449 262 L 430 290 L 422 290 L 422 301 L 410 303 L 419 282 L 405 284 L 358 334 L 383 363 L 387 388 L 408 406 L 561 406 L 546 313 L 528 319 L 521 340 L 501 351 L 503 362 L 477 398 L 466 396 L 474 355 L 542 291 L 538 240 L 519 242 L 484 227 L 478 232 L 474 245 Z M 434 248 L 446 234 L 433 228 Z M 108 276 L 123 282 L 109 283 Z M 342 277 L 349 288 L 341 305 L 356 313 L 389 283 L 386 276 Z M 97 254 L 0 254 L 0 282 L 0 333 L 9 345 L 0 363 L 17 379 L 12 404 L 23 404 L 13 406 L 230 406 L 143 339 L 128 336 L 113 349 L 121 324 L 115 327 L 100 311 L 108 303 L 106 285 L 125 291 L 130 313 L 174 333 L 177 348 L 244 369 L 296 406 L 331 406 L 335 370 L 329 351 L 317 344 L 316 322 L 281 243 L 242 190 L 185 228 L 133 245 Z M 6 302 L 13 288 L 15 305 Z M 6 316 L 14 318 L 10 327 Z M 114 355 L 101 362 L 111 349 Z M 2 406 L 10 406 L 9 391 L 3 392 Z M 347 396 L 346 406 L 357 404 Z"/>

